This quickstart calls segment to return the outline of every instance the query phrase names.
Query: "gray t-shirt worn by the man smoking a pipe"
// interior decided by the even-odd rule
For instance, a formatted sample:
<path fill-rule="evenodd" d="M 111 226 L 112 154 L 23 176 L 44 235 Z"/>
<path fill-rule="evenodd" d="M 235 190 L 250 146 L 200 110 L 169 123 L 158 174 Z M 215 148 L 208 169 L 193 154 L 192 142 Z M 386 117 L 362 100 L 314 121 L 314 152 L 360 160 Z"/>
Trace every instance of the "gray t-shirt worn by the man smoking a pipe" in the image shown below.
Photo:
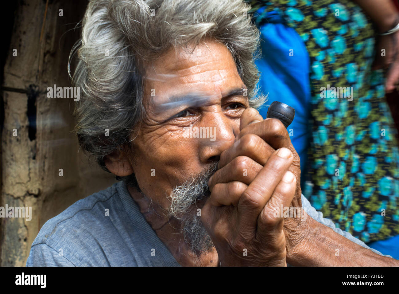
<path fill-rule="evenodd" d="M 303 195 L 302 206 L 316 221 L 369 248 L 323 219 Z M 124 182 L 119 182 L 48 220 L 32 243 L 26 266 L 180 265 L 144 219 Z"/>

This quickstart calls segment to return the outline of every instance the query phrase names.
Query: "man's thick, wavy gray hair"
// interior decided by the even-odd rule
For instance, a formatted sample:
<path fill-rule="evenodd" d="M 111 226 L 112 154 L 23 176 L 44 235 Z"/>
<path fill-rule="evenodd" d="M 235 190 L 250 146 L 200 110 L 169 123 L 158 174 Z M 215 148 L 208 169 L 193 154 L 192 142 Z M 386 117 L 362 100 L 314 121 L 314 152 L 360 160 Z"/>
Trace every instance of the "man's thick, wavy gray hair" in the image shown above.
<path fill-rule="evenodd" d="M 242 0 L 90 1 L 81 40 L 68 62 L 73 85 L 81 87 L 74 116 L 83 151 L 108 171 L 104 156 L 131 145 L 130 135 L 144 115 L 144 62 L 205 37 L 227 46 L 248 88 L 249 104 L 262 105 L 265 97 L 257 95 L 254 63 L 260 54 L 259 30 L 251 22 L 250 8 Z"/>

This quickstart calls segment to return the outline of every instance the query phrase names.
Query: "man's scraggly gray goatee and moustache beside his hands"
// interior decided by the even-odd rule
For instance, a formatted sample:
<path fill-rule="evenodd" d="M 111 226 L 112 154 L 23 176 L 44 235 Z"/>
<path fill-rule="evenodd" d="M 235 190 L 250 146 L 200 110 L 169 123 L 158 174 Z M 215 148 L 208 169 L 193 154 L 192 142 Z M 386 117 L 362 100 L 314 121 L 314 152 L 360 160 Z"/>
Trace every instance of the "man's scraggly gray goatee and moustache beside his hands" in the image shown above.
<path fill-rule="evenodd" d="M 213 248 L 211 237 L 205 230 L 196 207 L 193 206 L 198 200 L 209 196 L 208 181 L 216 170 L 217 162 L 197 177 L 175 187 L 170 193 L 168 216 L 181 220 L 184 241 L 196 254 L 209 252 Z"/>

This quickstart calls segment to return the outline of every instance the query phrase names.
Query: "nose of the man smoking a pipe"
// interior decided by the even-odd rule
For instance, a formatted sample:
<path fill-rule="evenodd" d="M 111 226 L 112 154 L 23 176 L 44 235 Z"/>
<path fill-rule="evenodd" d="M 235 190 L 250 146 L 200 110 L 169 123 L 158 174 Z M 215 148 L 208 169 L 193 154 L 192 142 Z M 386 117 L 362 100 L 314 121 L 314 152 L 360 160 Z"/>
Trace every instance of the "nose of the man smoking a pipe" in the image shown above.
<path fill-rule="evenodd" d="M 203 163 L 218 161 L 220 154 L 234 144 L 239 130 L 239 125 L 236 126 L 235 121 L 221 111 L 207 113 L 199 127 L 209 127 L 209 138 L 201 139 L 199 148 L 199 158 Z"/>

